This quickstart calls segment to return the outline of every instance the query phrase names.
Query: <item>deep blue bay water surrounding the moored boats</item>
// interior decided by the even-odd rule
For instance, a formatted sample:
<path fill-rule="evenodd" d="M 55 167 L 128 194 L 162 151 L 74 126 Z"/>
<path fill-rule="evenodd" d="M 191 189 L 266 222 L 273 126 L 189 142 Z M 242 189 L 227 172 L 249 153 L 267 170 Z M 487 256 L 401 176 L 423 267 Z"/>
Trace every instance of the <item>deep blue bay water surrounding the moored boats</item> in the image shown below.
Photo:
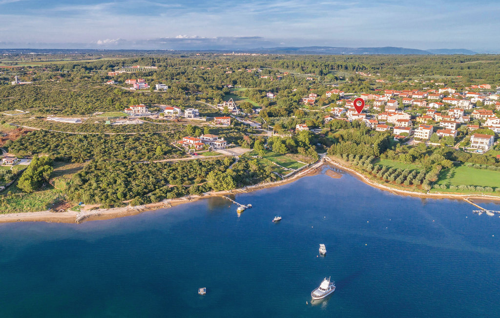
<path fill-rule="evenodd" d="M 108 221 L 0 224 L 0 317 L 500 315 L 497 216 L 347 174 L 235 199 L 253 208 L 238 218 L 209 198 Z M 311 306 L 325 276 L 336 291 Z"/>

